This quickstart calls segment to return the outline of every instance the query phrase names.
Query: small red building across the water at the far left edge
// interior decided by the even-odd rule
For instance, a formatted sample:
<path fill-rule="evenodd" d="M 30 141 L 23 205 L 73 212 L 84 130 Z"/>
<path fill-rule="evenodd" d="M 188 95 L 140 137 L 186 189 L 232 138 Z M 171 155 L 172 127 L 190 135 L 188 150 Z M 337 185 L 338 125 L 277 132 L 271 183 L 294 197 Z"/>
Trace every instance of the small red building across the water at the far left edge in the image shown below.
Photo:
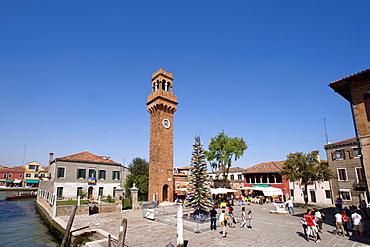
<path fill-rule="evenodd" d="M 0 186 L 22 187 L 24 170 L 22 166 L 0 169 Z"/>

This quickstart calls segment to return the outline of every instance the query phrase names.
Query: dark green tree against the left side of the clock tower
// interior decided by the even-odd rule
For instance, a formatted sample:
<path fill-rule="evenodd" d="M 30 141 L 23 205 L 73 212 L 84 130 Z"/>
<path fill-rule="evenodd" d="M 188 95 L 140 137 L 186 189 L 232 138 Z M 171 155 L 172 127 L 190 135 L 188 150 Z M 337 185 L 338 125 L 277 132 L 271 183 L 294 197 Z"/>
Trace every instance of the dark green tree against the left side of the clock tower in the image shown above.
<path fill-rule="evenodd" d="M 139 199 L 148 199 L 149 163 L 145 159 L 134 158 L 128 167 L 125 190 L 130 194 L 133 184 L 139 189 Z"/>

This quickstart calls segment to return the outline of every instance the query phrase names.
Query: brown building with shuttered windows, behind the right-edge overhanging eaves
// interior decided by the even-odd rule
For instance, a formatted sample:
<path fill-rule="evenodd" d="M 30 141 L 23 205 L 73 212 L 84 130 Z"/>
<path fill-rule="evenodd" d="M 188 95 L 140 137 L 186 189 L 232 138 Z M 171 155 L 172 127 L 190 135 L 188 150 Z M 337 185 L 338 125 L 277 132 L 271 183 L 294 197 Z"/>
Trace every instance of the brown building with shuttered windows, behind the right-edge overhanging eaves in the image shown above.
<path fill-rule="evenodd" d="M 356 138 L 327 144 L 324 148 L 329 168 L 338 176 L 331 180 L 334 197 L 340 196 L 344 205 L 359 205 L 365 199 L 366 181 Z"/>

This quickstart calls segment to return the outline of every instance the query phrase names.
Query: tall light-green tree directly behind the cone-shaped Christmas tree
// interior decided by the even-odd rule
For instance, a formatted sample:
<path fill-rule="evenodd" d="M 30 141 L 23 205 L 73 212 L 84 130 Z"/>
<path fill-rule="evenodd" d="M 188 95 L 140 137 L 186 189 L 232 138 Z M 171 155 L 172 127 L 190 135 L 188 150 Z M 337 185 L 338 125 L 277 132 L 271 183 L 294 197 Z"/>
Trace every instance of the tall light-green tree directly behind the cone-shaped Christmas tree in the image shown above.
<path fill-rule="evenodd" d="M 243 138 L 228 137 L 224 131 L 211 138 L 208 145 L 209 151 L 205 151 L 204 154 L 213 169 L 221 170 L 223 186 L 226 186 L 232 161 L 237 161 L 242 157 L 247 148 Z"/>

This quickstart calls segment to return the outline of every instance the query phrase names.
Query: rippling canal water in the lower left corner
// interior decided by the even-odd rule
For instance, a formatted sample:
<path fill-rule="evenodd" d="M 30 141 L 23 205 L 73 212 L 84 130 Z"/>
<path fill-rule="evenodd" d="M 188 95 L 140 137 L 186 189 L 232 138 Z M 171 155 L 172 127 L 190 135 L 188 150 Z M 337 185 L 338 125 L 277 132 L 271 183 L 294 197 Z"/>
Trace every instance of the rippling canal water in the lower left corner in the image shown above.
<path fill-rule="evenodd" d="M 0 191 L 0 246 L 60 246 L 35 209 L 35 199 L 4 200 L 17 192 Z"/>

